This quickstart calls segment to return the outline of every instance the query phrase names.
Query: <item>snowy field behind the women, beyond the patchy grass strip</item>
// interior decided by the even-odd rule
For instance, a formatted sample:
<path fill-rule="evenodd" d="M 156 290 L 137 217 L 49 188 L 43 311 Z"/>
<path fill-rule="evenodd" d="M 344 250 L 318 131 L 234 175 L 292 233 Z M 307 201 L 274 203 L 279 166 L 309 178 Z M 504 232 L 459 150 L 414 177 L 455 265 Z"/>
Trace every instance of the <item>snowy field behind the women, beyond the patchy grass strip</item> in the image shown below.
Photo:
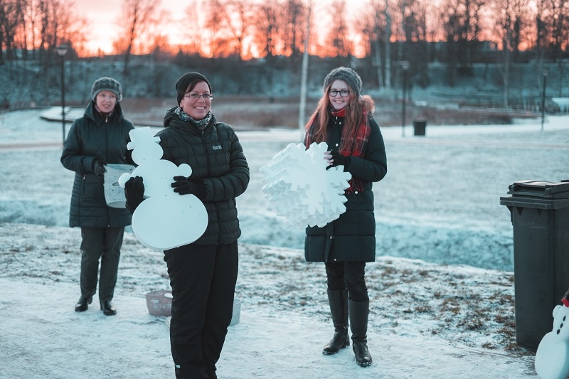
<path fill-rule="evenodd" d="M 61 124 L 40 119 L 40 113 L 0 114 L 0 220 L 65 226 L 74 174 L 59 161 Z M 381 123 L 381 115 L 376 117 Z M 412 127 L 406 137 L 400 127 L 384 128 L 388 174 L 374 185 L 378 255 L 512 270 L 512 225 L 500 197 L 508 196 L 514 181 L 569 178 L 569 117 L 548 117 L 544 132 L 540 121 L 427 125 L 426 137 L 413 137 Z M 238 198 L 240 241 L 302 249 L 304 230 L 265 210 L 259 172 L 287 144 L 298 143 L 300 132 L 239 136 L 252 178 Z"/>

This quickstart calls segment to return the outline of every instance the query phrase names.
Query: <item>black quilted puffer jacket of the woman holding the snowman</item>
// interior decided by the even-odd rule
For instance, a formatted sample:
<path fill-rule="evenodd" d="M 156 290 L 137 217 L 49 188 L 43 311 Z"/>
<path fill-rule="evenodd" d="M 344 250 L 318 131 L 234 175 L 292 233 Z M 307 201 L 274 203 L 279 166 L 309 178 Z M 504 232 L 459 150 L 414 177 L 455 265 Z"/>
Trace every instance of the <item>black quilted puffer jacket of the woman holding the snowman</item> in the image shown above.
<path fill-rule="evenodd" d="M 201 201 L 208 212 L 208 226 L 193 243 L 234 242 L 241 235 L 235 198 L 245 192 L 249 184 L 249 166 L 243 147 L 233 127 L 217 122 L 215 116 L 205 129 L 199 130 L 180 119 L 175 109 L 166 112 L 166 128 L 156 135 L 164 150 L 162 159 L 176 166 L 188 164 L 192 170 L 190 178 L 201 181 L 206 189 Z"/>

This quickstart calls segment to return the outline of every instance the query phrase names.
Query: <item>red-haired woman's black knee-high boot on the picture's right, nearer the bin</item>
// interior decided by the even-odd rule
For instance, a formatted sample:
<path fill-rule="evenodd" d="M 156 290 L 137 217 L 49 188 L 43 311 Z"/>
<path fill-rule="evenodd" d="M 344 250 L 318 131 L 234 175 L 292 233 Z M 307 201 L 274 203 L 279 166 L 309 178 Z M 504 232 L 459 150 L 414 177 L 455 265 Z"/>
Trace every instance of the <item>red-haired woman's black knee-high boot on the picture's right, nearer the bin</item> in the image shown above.
<path fill-rule="evenodd" d="M 350 311 L 351 341 L 356 363 L 361 366 L 371 365 L 371 355 L 368 351 L 368 314 L 369 300 L 348 300 Z"/>

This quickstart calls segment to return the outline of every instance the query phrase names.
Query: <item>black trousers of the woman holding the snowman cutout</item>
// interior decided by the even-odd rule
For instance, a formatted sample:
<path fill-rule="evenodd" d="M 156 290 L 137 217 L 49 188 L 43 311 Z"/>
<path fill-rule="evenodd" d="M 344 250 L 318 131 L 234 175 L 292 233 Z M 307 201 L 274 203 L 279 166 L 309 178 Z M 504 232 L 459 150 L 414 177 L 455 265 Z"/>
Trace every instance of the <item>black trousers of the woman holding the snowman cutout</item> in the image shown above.
<path fill-rule="evenodd" d="M 170 345 L 176 378 L 216 378 L 233 316 L 237 241 L 166 250 L 164 261 L 173 296 Z"/>

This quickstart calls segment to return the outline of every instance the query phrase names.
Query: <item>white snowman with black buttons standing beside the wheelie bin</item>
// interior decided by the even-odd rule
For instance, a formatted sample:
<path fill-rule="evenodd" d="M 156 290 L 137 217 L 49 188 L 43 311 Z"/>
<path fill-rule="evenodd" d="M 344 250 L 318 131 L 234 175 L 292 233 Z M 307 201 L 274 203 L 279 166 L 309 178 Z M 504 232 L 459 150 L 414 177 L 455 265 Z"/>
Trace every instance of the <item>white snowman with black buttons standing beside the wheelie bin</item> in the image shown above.
<path fill-rule="evenodd" d="M 541 339 L 536 352 L 536 373 L 541 379 L 565 379 L 569 375 L 569 299 L 553 309 L 553 330 Z"/>

